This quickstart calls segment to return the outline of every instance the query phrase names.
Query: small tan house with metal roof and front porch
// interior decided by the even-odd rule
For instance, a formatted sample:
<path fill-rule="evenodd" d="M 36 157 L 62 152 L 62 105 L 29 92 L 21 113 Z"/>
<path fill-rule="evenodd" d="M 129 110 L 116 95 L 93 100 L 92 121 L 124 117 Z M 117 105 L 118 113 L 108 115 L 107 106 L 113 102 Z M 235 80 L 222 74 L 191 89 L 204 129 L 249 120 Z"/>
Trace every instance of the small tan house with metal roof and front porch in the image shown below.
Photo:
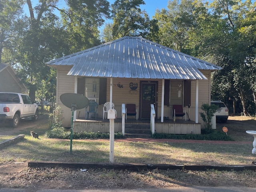
<path fill-rule="evenodd" d="M 144 38 L 128 36 L 46 64 L 57 70 L 56 105 L 63 110 L 64 126 L 70 127 L 71 112 L 60 101 L 60 95 L 78 93 L 98 103 L 97 118 L 101 120 L 92 118 L 97 126 L 88 124 L 85 110 L 76 110 L 74 126 L 79 131 L 97 131 L 99 127 L 100 132 L 109 131 L 102 120 L 102 108 L 105 102 L 111 101 L 117 119 L 122 118 L 122 104 L 136 104 L 138 119 L 150 119 L 150 104 L 154 104 L 156 132 L 200 134 L 199 112 L 202 104 L 210 103 L 211 72 L 221 69 Z M 188 118 L 190 112 L 191 122 L 177 117 L 183 119 L 185 128 L 184 124 L 173 121 L 172 106 L 176 104 L 186 110 L 184 117 Z M 134 116 L 127 118 L 134 119 Z M 172 122 L 166 125 L 167 120 Z M 188 123 L 192 122 L 190 128 Z M 115 131 L 120 131 L 118 122 L 116 125 Z"/>

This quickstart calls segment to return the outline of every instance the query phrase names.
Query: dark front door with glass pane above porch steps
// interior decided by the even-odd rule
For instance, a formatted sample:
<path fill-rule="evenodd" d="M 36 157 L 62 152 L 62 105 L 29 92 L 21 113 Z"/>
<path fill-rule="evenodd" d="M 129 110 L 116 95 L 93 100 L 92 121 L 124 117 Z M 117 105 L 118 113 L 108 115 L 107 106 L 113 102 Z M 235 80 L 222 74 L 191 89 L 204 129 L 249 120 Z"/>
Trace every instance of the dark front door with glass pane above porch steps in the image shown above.
<path fill-rule="evenodd" d="M 140 118 L 150 118 L 150 104 L 154 104 L 157 113 L 158 82 L 141 81 L 140 88 Z"/>

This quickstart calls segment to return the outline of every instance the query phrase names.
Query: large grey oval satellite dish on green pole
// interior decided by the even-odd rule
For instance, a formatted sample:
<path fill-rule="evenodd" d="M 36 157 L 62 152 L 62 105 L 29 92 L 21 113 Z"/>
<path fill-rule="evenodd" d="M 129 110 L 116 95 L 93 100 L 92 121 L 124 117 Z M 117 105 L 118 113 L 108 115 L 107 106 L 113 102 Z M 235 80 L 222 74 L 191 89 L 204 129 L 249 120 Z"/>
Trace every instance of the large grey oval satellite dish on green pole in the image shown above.
<path fill-rule="evenodd" d="M 60 96 L 60 100 L 70 109 L 72 109 L 74 105 L 76 105 L 76 109 L 82 109 L 88 106 L 89 103 L 88 98 L 77 93 L 64 93 Z"/>

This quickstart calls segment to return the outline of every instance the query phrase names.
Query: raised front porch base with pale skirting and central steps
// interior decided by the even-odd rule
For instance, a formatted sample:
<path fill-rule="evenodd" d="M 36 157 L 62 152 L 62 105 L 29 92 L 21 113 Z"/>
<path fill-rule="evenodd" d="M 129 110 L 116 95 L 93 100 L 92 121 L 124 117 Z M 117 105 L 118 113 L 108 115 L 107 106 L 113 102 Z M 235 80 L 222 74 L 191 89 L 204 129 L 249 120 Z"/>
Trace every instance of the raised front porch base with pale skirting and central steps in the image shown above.
<path fill-rule="evenodd" d="M 114 120 L 114 132 L 123 132 L 125 135 L 144 135 L 148 131 L 152 134 L 150 119 L 138 119 L 127 118 L 124 122 L 124 130 L 122 130 L 122 118 L 116 118 Z M 110 120 L 102 118 L 84 118 L 76 119 L 73 122 L 74 132 L 102 132 L 108 133 L 110 129 Z M 147 130 L 147 131 L 146 131 Z M 161 122 L 160 119 L 154 121 L 155 133 L 165 134 L 201 134 L 201 124 L 192 120 L 184 120 L 182 118 L 174 121 L 173 119 L 164 119 Z M 143 137 L 143 136 L 142 136 Z"/>

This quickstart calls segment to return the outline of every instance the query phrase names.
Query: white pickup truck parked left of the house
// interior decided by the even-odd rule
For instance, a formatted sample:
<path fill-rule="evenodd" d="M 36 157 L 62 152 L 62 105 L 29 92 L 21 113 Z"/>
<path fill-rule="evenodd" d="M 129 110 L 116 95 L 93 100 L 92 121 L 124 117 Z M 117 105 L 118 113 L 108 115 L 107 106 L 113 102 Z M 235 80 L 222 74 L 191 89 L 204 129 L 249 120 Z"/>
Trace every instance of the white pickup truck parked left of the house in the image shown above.
<path fill-rule="evenodd" d="M 29 96 L 21 93 L 0 92 L 0 122 L 8 120 L 17 127 L 20 118 L 38 119 L 38 105 Z"/>

